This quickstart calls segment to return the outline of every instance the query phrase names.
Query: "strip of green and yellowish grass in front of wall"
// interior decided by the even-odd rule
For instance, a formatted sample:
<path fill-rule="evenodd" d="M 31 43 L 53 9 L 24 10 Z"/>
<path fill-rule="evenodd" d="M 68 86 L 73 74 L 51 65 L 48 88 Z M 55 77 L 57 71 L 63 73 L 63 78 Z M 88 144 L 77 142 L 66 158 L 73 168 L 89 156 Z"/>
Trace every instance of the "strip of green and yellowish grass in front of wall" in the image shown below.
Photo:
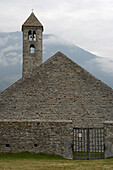
<path fill-rule="evenodd" d="M 113 170 L 113 158 L 68 160 L 47 154 L 0 154 L 0 170 Z"/>

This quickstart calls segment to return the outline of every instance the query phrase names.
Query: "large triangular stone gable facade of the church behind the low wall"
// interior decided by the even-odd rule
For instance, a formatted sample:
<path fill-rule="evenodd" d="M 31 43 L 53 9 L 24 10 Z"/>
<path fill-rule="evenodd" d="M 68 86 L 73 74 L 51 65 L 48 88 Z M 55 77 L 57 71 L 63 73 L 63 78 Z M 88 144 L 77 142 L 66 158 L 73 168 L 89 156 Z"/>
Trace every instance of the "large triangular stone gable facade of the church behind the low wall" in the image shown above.
<path fill-rule="evenodd" d="M 113 90 L 59 52 L 0 94 L 0 119 L 103 127 L 113 120 Z"/>

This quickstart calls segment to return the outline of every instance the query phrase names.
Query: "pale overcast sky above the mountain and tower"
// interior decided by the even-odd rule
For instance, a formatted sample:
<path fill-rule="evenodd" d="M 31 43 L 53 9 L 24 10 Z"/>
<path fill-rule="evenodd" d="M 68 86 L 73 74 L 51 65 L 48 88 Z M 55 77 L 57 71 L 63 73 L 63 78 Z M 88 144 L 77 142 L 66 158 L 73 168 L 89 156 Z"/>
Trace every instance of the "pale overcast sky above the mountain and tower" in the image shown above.
<path fill-rule="evenodd" d="M 20 31 L 32 9 L 44 33 L 113 60 L 113 0 L 0 0 L 0 32 Z"/>

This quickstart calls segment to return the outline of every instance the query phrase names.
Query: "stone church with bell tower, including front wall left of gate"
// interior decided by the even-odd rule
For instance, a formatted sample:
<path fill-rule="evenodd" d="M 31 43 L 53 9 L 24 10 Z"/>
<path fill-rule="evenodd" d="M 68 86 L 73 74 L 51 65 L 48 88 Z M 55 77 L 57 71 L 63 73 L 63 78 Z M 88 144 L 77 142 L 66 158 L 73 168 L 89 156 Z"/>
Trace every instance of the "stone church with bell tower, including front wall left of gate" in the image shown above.
<path fill-rule="evenodd" d="M 22 25 L 23 75 L 0 94 L 0 152 L 72 157 L 73 127 L 113 120 L 113 90 L 61 52 L 42 63 L 43 25 Z"/>

